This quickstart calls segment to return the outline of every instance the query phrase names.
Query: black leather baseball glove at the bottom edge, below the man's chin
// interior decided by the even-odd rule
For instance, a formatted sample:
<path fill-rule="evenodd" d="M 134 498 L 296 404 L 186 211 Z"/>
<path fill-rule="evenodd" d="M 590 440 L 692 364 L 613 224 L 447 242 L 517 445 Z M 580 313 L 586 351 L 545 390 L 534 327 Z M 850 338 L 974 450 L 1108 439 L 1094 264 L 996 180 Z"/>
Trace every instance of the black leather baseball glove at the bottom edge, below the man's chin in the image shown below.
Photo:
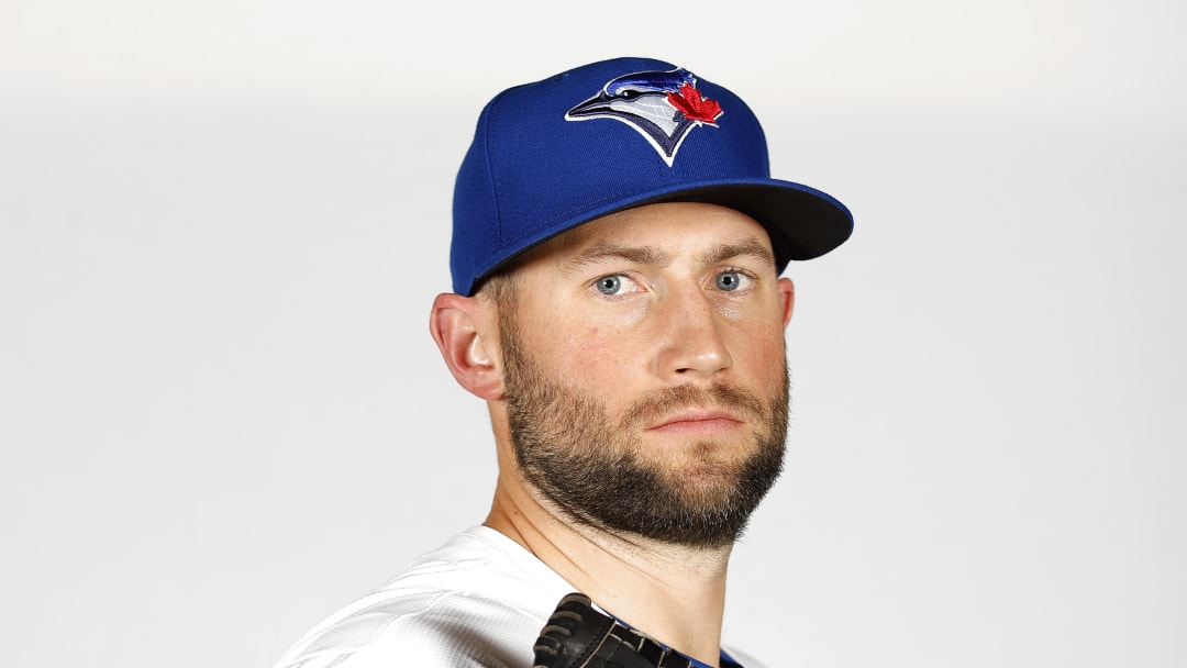
<path fill-rule="evenodd" d="M 580 593 L 560 599 L 533 649 L 532 668 L 692 668 L 684 655 L 594 610 Z"/>

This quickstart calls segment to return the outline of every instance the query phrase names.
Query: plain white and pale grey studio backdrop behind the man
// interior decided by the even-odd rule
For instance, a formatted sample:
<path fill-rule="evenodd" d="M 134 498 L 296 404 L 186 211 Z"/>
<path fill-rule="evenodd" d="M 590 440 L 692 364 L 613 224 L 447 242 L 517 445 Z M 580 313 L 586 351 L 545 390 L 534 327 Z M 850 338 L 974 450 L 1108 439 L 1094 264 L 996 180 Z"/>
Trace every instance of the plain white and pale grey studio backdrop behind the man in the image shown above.
<path fill-rule="evenodd" d="M 780 7 L 780 8 L 776 8 Z M 1187 664 L 1183 6 L 0 1 L 0 636 L 267 667 L 477 523 L 427 333 L 499 90 L 659 57 L 855 212 L 795 265 L 772 666 Z"/>

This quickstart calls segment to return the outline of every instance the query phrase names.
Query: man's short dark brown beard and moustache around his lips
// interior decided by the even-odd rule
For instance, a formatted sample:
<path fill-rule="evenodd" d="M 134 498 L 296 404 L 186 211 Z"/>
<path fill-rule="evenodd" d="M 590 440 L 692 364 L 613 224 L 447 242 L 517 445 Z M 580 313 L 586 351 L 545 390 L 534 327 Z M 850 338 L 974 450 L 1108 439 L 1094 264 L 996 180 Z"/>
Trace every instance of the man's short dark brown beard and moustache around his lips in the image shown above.
<path fill-rule="evenodd" d="M 768 401 L 729 384 L 677 386 L 639 400 L 617 424 L 596 396 L 550 377 L 501 318 L 512 445 L 525 478 L 569 519 L 672 545 L 732 545 L 779 478 L 787 438 L 788 377 Z M 756 430 L 751 452 L 711 439 L 683 446 L 679 464 L 647 459 L 635 435 L 686 408 L 717 407 Z"/>

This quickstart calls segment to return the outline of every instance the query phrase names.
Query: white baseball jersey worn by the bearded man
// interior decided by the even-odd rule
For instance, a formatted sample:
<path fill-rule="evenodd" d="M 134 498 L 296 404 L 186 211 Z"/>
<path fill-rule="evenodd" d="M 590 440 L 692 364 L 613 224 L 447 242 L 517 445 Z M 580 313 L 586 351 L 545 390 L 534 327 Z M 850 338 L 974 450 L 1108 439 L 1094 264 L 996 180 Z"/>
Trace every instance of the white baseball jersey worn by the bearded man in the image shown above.
<path fill-rule="evenodd" d="M 515 541 L 474 527 L 326 617 L 275 668 L 528 668 L 573 591 Z"/>

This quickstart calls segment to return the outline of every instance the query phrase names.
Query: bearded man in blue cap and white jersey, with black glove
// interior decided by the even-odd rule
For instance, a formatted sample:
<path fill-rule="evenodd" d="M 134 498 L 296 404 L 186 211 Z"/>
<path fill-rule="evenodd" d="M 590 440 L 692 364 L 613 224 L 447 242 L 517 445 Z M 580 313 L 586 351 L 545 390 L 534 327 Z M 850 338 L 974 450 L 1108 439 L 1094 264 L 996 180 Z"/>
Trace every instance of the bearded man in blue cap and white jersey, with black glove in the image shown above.
<path fill-rule="evenodd" d="M 769 178 L 738 97 L 668 63 L 495 97 L 457 178 L 455 292 L 430 322 L 487 401 L 490 514 L 279 667 L 577 666 L 614 643 L 591 664 L 757 666 L 722 650 L 721 626 L 730 549 L 782 466 L 779 274 L 851 229 L 833 198 Z M 570 592 L 589 598 L 550 622 Z"/>

